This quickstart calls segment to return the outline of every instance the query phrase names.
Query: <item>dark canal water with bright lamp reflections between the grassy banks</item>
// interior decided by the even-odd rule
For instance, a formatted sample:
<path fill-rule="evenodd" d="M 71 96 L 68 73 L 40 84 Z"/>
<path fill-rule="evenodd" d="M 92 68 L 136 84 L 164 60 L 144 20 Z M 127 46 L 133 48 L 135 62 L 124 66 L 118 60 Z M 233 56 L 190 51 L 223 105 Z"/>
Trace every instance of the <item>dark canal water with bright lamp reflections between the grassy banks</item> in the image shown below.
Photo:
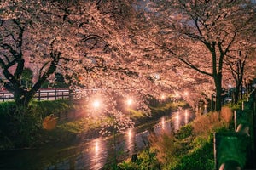
<path fill-rule="evenodd" d="M 8 150 L 0 152 L 0 169 L 104 169 L 104 165 L 114 160 L 123 161 L 148 144 L 150 133 L 156 135 L 177 131 L 189 123 L 195 114 L 184 110 L 163 116 L 148 130 L 128 129 L 126 133 L 113 138 L 88 139 L 83 144 L 70 147 L 45 147 L 44 149 Z"/>

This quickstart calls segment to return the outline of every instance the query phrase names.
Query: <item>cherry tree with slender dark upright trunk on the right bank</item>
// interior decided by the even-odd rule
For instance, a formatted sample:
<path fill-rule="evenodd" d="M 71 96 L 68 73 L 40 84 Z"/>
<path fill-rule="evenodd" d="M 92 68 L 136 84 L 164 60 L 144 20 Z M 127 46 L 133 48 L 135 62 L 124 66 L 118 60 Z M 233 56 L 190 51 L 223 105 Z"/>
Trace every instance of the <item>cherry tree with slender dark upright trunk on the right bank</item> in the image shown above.
<path fill-rule="evenodd" d="M 216 110 L 220 111 L 224 59 L 232 46 L 243 40 L 241 35 L 253 29 L 254 4 L 177 0 L 155 1 L 151 7 L 149 18 L 159 30 L 154 34 L 156 43 L 191 69 L 212 78 Z"/>

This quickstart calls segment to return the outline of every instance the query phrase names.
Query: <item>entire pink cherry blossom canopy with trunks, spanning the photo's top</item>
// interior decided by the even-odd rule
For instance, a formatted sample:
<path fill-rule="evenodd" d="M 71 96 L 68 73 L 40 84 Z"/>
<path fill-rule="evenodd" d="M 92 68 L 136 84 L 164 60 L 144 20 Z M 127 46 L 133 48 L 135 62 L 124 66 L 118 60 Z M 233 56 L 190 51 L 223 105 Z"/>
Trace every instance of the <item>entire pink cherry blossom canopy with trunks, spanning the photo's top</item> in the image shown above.
<path fill-rule="evenodd" d="M 0 83 L 17 105 L 28 105 L 57 72 L 70 88 L 140 101 L 189 91 L 183 96 L 195 105 L 215 91 L 219 110 L 231 60 L 241 59 L 234 53 L 255 61 L 248 1 L 6 0 L 0 32 Z M 26 68 L 33 71 L 29 89 L 20 81 Z"/>

